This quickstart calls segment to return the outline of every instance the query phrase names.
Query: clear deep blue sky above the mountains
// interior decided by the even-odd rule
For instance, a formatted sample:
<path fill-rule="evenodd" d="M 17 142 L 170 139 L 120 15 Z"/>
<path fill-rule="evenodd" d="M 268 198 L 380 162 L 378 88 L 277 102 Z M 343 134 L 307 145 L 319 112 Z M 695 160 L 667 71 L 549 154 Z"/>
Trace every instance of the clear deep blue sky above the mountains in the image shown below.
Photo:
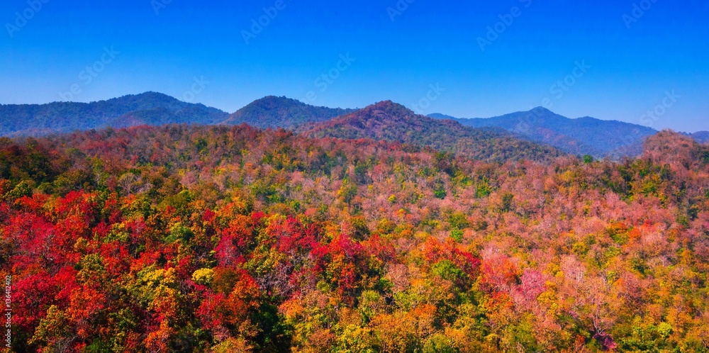
<path fill-rule="evenodd" d="M 709 130 L 706 0 L 3 0 L 0 23 L 0 103 L 160 91 L 229 112 L 277 95 L 457 117 L 544 104 Z"/>

